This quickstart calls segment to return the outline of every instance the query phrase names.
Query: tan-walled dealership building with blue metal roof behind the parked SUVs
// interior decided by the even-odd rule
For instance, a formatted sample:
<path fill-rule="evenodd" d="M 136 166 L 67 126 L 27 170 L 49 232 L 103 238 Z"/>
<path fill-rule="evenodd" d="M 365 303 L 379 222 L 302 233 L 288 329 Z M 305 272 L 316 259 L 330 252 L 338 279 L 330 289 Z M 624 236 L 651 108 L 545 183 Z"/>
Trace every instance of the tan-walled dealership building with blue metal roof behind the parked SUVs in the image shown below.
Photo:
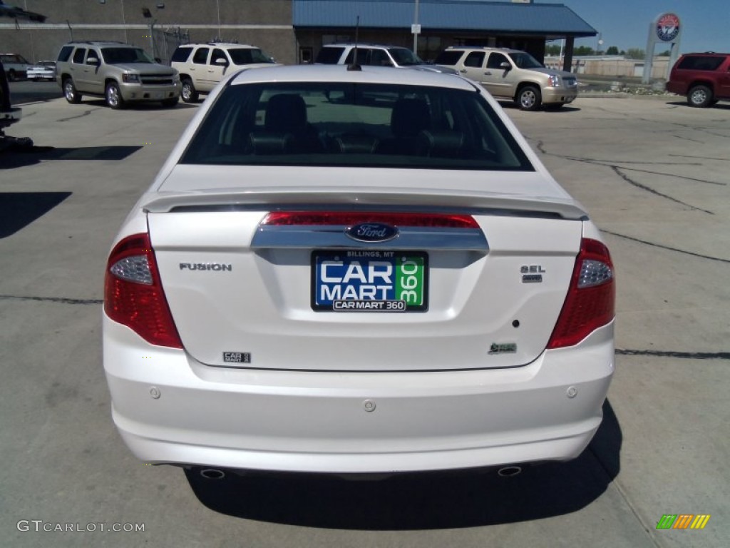
<path fill-rule="evenodd" d="M 413 48 L 431 60 L 450 45 L 515 47 L 542 60 L 545 42 L 598 32 L 563 4 L 485 0 L 9 0 L 41 15 L 0 17 L 0 50 L 55 59 L 69 40 L 117 40 L 169 61 L 183 42 L 239 42 L 285 64 L 309 63 L 332 42 Z M 415 34 L 414 34 L 415 31 Z"/>

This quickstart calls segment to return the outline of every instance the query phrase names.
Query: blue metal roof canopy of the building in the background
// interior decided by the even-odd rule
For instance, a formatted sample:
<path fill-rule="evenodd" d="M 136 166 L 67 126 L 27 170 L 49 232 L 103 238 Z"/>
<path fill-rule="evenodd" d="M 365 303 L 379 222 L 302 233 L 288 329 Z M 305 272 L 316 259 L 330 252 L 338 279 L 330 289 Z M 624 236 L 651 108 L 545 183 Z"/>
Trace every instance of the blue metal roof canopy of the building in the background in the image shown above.
<path fill-rule="evenodd" d="M 408 28 L 415 0 L 293 0 L 293 26 Z M 564 4 L 524 4 L 480 0 L 420 0 L 418 23 L 424 30 L 490 31 L 548 38 L 592 37 L 595 28 Z"/>

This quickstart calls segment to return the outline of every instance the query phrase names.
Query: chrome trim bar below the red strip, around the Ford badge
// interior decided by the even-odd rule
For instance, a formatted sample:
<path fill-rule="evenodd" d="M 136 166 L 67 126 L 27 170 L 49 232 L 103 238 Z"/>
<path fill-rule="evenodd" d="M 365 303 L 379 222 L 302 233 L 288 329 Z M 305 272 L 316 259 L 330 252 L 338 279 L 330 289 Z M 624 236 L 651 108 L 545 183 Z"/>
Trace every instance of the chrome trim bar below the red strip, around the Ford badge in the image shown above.
<path fill-rule="evenodd" d="M 480 251 L 488 253 L 489 244 L 481 229 L 399 227 L 400 234 L 386 242 L 358 242 L 345 235 L 342 225 L 299 225 L 258 227 L 252 249 L 326 249 L 392 248 L 420 251 Z"/>

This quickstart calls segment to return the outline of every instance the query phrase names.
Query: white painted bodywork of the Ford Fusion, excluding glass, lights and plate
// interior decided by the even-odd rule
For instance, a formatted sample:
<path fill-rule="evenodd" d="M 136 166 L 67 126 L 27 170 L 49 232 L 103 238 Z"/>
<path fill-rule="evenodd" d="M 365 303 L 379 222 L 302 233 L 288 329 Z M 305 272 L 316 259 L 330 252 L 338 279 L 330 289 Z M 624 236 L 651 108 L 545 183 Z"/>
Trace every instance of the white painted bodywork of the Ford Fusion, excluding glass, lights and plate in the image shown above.
<path fill-rule="evenodd" d="M 613 320 L 571 346 L 546 347 L 574 292 L 579 248 L 600 242 L 598 230 L 483 89 L 395 72 L 298 66 L 229 77 L 131 211 L 115 246 L 149 234 L 183 346 L 148 343 L 104 314 L 115 425 L 140 459 L 393 473 L 569 460 L 591 440 L 614 368 Z M 533 169 L 180 164 L 226 86 L 269 81 L 479 93 Z M 256 243 L 268 213 L 312 205 L 466 214 L 488 246 L 426 250 L 426 312 L 322 313 L 310 306 L 311 248 Z M 197 263 L 218 267 L 192 270 Z M 526 272 L 542 273 L 540 283 L 525 283 Z M 226 362 L 226 353 L 246 359 Z"/>

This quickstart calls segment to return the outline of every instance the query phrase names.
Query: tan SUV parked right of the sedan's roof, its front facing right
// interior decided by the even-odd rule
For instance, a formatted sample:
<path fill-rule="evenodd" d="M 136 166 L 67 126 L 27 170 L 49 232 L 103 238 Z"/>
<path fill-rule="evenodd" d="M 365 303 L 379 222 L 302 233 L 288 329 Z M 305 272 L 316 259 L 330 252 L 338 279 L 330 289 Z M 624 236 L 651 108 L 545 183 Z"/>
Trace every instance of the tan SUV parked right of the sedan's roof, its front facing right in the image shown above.
<path fill-rule="evenodd" d="M 529 53 L 497 47 L 448 47 L 436 64 L 456 69 L 483 85 L 496 99 L 510 99 L 522 110 L 560 108 L 578 95 L 572 72 L 546 69 Z"/>

